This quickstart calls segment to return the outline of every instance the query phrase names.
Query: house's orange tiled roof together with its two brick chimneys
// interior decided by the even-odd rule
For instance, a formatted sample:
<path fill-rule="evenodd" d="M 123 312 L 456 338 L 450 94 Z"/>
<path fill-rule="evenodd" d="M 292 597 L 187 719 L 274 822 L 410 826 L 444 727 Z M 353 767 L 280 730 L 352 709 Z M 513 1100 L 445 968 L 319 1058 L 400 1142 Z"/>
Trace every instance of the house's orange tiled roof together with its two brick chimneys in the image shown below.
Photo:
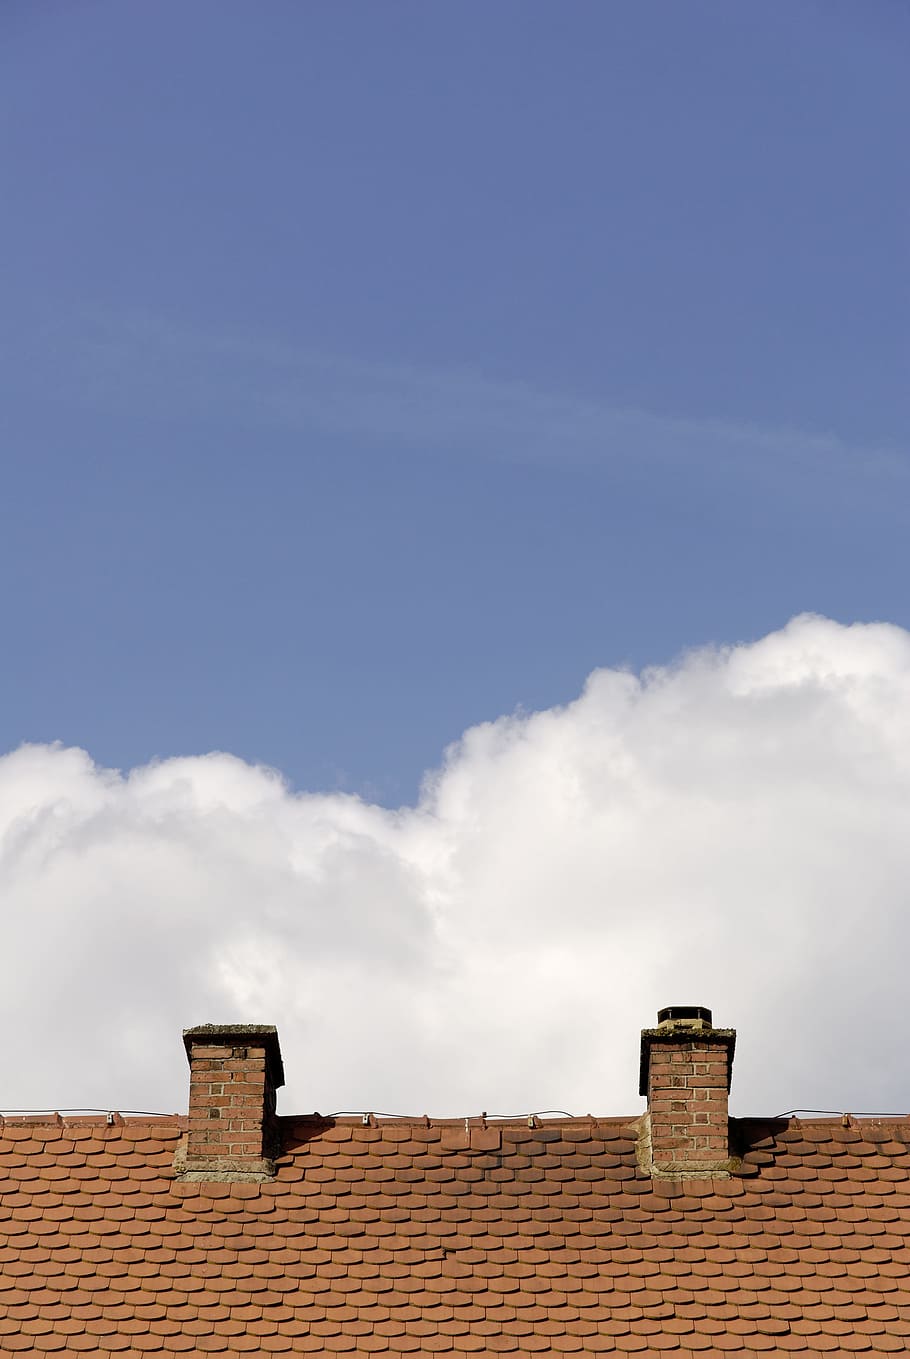
<path fill-rule="evenodd" d="M 671 1007 L 644 1117 L 277 1117 L 268 1026 L 189 1117 L 7 1118 L 0 1354 L 910 1352 L 910 1121 L 729 1118 Z"/>

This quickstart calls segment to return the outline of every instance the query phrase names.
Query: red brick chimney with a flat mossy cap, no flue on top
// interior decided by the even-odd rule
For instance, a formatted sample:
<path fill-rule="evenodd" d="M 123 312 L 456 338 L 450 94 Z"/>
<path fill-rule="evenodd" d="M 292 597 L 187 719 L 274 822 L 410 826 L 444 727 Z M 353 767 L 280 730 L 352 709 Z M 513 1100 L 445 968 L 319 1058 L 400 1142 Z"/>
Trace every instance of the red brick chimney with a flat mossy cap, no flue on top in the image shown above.
<path fill-rule="evenodd" d="M 274 1174 L 274 1093 L 284 1084 L 273 1025 L 202 1023 L 183 1030 L 190 1064 L 181 1180 L 266 1180 Z"/>

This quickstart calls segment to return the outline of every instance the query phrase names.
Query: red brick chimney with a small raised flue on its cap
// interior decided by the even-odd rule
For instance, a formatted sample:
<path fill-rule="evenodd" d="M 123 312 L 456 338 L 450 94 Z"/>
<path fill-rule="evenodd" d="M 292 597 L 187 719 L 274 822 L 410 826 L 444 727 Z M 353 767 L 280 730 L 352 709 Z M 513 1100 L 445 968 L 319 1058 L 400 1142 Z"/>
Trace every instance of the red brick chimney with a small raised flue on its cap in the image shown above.
<path fill-rule="evenodd" d="M 642 1030 L 644 1159 L 655 1178 L 729 1173 L 727 1095 L 735 1044 L 735 1030 L 714 1029 L 704 1006 L 667 1006 L 657 1011 L 657 1027 Z"/>

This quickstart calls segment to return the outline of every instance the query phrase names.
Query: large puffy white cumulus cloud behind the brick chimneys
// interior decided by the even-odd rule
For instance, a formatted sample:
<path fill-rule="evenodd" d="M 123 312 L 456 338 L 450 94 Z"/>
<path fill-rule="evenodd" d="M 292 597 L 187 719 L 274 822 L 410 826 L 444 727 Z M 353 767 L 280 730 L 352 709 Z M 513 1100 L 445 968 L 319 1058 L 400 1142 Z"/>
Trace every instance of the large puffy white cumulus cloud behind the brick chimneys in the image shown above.
<path fill-rule="evenodd" d="M 657 1006 L 733 1112 L 902 1110 L 910 635 L 800 617 L 469 730 L 414 807 L 230 754 L 0 760 L 0 1106 L 182 1109 L 179 1029 L 274 1022 L 285 1112 L 634 1113 Z"/>

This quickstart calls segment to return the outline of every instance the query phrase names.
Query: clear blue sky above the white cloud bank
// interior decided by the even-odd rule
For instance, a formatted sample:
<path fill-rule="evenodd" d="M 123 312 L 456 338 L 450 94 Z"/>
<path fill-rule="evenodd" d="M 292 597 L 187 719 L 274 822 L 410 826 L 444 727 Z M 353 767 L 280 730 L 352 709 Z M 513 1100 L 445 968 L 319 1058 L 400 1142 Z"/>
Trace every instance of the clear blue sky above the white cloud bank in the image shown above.
<path fill-rule="evenodd" d="M 596 666 L 910 625 L 909 39 L 7 0 L 0 747 L 394 806 Z"/>

